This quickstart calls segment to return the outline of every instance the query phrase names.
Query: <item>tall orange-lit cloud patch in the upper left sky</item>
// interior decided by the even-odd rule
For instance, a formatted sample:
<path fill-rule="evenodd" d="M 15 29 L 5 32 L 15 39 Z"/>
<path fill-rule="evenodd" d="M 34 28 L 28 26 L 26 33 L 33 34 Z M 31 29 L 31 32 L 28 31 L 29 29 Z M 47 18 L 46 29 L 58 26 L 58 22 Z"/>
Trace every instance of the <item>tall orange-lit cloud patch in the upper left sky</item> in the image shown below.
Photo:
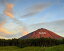
<path fill-rule="evenodd" d="M 13 15 L 13 7 L 14 7 L 14 4 L 7 4 L 6 5 L 6 9 L 4 11 L 5 15 L 9 16 L 10 18 L 14 18 L 14 15 Z"/>

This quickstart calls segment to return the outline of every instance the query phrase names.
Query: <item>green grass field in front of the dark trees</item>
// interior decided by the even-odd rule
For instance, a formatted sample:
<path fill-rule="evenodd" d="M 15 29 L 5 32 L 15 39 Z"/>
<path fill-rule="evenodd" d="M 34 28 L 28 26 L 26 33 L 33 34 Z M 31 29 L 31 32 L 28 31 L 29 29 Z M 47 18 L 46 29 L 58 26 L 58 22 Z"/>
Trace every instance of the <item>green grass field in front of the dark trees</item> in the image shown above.
<path fill-rule="evenodd" d="M 16 46 L 0 47 L 0 51 L 64 51 L 64 45 L 53 47 L 25 47 L 19 48 Z"/>

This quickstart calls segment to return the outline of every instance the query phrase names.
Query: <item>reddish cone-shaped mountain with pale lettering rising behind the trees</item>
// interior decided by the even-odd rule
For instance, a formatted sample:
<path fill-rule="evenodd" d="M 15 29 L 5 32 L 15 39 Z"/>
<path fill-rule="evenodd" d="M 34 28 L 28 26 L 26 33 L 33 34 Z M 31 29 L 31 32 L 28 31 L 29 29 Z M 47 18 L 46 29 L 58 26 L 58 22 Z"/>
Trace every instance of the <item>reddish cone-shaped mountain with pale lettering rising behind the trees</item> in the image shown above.
<path fill-rule="evenodd" d="M 60 35 L 50 31 L 50 30 L 47 30 L 47 29 L 44 29 L 44 28 L 41 28 L 41 29 L 38 29 L 34 32 L 31 32 L 23 37 L 21 37 L 21 39 L 29 39 L 29 38 L 52 38 L 52 39 L 62 39 L 63 37 L 61 37 Z"/>

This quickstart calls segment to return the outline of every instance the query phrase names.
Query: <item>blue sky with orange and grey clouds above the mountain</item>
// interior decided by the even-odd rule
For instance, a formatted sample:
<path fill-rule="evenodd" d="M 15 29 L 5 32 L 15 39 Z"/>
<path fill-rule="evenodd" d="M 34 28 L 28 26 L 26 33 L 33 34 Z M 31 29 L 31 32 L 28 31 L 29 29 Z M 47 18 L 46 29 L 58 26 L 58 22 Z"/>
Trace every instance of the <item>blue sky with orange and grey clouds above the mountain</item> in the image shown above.
<path fill-rule="evenodd" d="M 20 38 L 46 28 L 64 37 L 64 0 L 0 0 L 0 38 Z"/>

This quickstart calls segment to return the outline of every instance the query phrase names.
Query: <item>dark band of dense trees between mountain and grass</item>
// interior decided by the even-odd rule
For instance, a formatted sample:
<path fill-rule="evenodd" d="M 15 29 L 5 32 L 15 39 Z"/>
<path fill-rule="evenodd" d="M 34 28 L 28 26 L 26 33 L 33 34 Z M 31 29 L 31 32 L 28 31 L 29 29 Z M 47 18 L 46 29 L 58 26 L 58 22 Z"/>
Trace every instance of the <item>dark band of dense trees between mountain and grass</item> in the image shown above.
<path fill-rule="evenodd" d="M 18 47 L 27 47 L 27 46 L 55 46 L 64 44 L 64 39 L 56 40 L 51 38 L 37 38 L 37 39 L 0 39 L 0 46 L 18 46 Z"/>

